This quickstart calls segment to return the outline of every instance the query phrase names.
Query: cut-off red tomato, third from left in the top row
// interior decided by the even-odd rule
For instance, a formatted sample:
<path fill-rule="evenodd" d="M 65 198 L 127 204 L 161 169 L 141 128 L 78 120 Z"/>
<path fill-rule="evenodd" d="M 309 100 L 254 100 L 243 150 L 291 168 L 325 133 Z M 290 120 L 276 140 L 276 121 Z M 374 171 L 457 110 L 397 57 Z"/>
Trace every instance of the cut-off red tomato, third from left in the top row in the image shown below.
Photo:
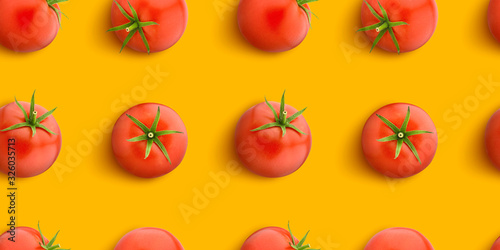
<path fill-rule="evenodd" d="M 317 0 L 241 0 L 238 26 L 245 39 L 258 49 L 281 52 L 297 47 L 310 27 L 307 3 Z"/>

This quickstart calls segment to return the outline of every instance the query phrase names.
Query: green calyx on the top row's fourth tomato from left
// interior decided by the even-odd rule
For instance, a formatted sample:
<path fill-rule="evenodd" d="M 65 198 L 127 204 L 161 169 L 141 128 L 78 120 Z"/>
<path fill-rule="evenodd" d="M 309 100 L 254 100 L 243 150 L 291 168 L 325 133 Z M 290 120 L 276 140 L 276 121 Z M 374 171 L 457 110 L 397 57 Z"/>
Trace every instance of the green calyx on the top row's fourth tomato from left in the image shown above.
<path fill-rule="evenodd" d="M 375 16 L 380 21 L 379 23 L 376 23 L 376 24 L 373 24 L 370 26 L 366 26 L 366 27 L 363 27 L 363 28 L 358 30 L 358 32 L 359 31 L 367 31 L 367 30 L 375 30 L 379 33 L 378 36 L 373 41 L 373 45 L 372 45 L 372 48 L 370 49 L 370 52 L 372 52 L 373 48 L 375 48 L 375 46 L 380 41 L 380 39 L 382 39 L 384 34 L 387 33 L 387 31 L 389 31 L 389 34 L 392 38 L 392 42 L 396 46 L 396 49 L 398 50 L 398 54 L 399 54 L 401 51 L 399 49 L 399 43 L 398 43 L 398 40 L 396 39 L 396 35 L 394 34 L 393 28 L 396 26 L 408 25 L 408 24 L 405 22 L 391 22 L 391 20 L 389 20 L 389 16 L 387 15 L 387 12 L 385 11 L 384 7 L 382 7 L 380 2 L 378 2 L 378 5 L 380 7 L 380 11 L 382 11 L 382 16 L 380 16 L 368 2 L 365 1 L 365 4 L 366 4 L 366 6 L 368 6 L 368 9 L 370 9 L 370 12 L 373 14 L 373 16 Z"/>

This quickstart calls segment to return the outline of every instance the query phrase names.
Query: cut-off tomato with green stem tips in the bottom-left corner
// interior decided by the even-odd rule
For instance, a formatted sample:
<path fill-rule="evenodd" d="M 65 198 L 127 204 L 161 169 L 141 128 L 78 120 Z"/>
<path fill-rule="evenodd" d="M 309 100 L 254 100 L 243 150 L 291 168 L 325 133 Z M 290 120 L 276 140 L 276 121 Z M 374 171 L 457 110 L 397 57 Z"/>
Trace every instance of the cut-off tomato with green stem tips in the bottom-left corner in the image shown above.
<path fill-rule="evenodd" d="M 13 234 L 15 234 L 15 242 L 9 240 Z M 64 250 L 59 244 L 54 245 L 57 234 L 49 241 L 43 236 L 40 225 L 38 225 L 38 231 L 31 227 L 16 227 L 15 232 L 6 231 L 0 235 L 0 250 Z"/>

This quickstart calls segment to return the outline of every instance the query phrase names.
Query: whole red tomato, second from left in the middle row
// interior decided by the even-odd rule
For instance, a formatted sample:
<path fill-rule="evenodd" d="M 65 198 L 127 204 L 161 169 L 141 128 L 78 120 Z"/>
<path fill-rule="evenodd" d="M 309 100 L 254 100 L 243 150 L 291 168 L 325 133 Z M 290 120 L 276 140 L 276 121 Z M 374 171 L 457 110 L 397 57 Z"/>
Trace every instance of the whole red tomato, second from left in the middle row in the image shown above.
<path fill-rule="evenodd" d="M 187 149 L 186 127 L 179 115 L 156 103 L 125 111 L 116 121 L 111 140 L 118 164 L 144 178 L 174 170 Z"/>

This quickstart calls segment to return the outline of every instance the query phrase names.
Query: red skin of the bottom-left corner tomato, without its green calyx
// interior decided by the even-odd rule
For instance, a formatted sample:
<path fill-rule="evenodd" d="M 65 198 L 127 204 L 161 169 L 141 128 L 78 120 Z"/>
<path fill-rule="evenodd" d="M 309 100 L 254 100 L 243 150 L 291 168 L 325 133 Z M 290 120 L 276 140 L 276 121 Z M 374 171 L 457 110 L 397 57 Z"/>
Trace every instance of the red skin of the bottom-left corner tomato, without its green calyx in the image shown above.
<path fill-rule="evenodd" d="M 9 231 L 0 235 L 0 250 L 43 250 L 39 244 L 42 238 L 37 230 L 31 227 L 16 227 L 15 231 L 15 242 L 9 240 Z M 43 240 L 45 244 L 49 243 L 47 238 Z"/>

